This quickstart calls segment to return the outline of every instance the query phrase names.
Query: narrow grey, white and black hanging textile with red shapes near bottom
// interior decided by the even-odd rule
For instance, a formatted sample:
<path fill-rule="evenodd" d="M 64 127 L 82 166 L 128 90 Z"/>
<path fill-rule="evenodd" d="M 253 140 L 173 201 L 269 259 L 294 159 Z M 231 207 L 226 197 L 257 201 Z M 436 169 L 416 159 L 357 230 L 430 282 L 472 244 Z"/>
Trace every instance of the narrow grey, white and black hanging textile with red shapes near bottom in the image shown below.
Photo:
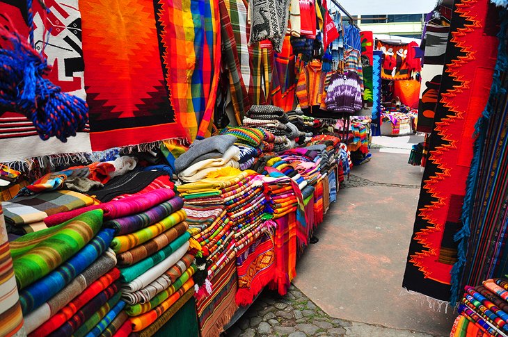
<path fill-rule="evenodd" d="M 419 132 L 430 133 L 434 129 L 434 114 L 438 103 L 441 75 L 445 65 L 446 44 L 450 26 L 427 24 L 424 46 L 424 65 L 422 69 L 422 86 L 418 107 Z"/>

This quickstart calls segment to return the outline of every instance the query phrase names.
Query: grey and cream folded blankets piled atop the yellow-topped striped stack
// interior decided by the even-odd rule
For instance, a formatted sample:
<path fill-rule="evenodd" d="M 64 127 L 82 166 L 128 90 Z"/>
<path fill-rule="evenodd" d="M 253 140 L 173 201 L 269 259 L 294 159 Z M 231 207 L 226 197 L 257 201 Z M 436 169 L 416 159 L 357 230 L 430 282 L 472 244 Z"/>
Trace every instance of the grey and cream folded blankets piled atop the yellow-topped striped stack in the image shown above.
<path fill-rule="evenodd" d="M 195 140 L 189 149 L 175 160 L 175 170 L 182 181 L 199 181 L 222 167 L 239 168 L 240 149 L 235 135 L 215 135 Z"/>

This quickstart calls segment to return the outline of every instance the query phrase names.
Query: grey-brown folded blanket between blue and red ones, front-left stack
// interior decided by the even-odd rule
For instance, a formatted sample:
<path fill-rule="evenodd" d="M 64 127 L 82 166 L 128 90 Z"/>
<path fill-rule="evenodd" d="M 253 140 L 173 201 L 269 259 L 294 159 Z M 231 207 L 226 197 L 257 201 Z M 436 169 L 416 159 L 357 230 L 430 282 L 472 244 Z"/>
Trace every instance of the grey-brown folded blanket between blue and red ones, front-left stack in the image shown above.
<path fill-rule="evenodd" d="M 86 268 L 84 272 L 79 274 L 58 294 L 49 299 L 45 304 L 42 304 L 38 309 L 35 309 L 32 313 L 29 313 L 29 315 L 24 316 L 24 327 L 26 331 L 30 333 L 43 322 L 49 320 L 49 318 L 66 306 L 72 299 L 83 293 L 84 290 L 90 286 L 90 283 L 100 279 L 102 275 L 109 272 L 115 265 L 116 254 L 113 250 L 107 249 L 100 258 L 97 258 L 97 261 Z M 118 271 L 118 276 L 120 276 L 120 271 Z M 38 334 L 36 335 L 38 336 Z"/>

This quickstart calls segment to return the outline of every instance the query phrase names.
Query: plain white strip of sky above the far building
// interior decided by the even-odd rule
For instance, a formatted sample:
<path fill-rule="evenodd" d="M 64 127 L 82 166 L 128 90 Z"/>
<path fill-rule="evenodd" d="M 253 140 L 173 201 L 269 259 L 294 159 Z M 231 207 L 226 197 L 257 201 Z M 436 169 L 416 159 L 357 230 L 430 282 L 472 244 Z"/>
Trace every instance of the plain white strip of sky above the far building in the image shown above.
<path fill-rule="evenodd" d="M 351 15 L 429 13 L 436 0 L 338 0 Z"/>

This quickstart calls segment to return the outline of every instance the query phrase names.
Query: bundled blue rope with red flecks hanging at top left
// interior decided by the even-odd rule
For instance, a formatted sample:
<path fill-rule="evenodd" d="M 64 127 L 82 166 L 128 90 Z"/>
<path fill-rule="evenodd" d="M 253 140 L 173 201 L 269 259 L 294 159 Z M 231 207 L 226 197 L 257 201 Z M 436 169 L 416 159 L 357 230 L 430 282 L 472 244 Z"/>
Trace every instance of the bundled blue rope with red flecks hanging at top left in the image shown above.
<path fill-rule="evenodd" d="M 26 3 L 30 42 L 14 28 L 0 26 L 0 110 L 25 115 L 42 140 L 56 137 L 66 142 L 68 137 L 85 128 L 88 105 L 42 78 L 49 74 L 51 67 L 42 55 L 44 49 L 40 54 L 33 49 L 32 0 Z M 41 5 L 45 8 L 44 3 Z M 4 18 L 13 27 L 10 19 Z"/>

